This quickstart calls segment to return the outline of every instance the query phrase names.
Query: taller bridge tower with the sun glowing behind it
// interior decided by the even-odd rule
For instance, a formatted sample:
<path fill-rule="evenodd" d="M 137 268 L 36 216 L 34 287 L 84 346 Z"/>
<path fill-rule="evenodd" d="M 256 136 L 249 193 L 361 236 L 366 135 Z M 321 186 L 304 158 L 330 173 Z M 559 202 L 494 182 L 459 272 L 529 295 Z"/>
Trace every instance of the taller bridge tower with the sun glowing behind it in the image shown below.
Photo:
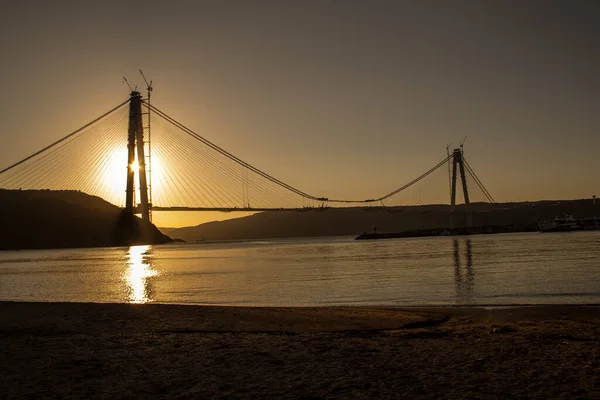
<path fill-rule="evenodd" d="M 137 161 L 140 185 L 140 203 L 135 205 L 135 163 Z M 146 182 L 146 156 L 144 154 L 144 127 L 142 124 L 142 95 L 132 91 L 129 98 L 129 130 L 127 135 L 127 188 L 125 211 L 130 214 L 139 212 L 142 219 L 150 221 L 148 204 L 148 184 Z"/>

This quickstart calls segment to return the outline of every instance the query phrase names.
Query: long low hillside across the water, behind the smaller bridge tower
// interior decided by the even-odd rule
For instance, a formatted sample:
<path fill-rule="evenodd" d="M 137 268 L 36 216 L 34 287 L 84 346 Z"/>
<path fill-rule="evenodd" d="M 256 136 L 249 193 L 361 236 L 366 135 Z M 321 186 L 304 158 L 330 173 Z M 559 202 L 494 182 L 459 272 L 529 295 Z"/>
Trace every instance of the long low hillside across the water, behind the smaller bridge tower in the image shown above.
<path fill-rule="evenodd" d="M 462 207 L 462 206 L 461 206 Z M 455 227 L 465 226 L 461 207 Z M 473 225 L 511 225 L 515 230 L 535 229 L 536 223 L 562 213 L 575 218 L 600 216 L 600 201 L 539 201 L 524 203 L 477 203 L 471 205 Z M 415 206 L 389 209 L 348 208 L 323 211 L 272 211 L 179 229 L 169 235 L 186 241 L 289 238 L 359 235 L 371 231 L 402 232 L 414 229 L 448 228 L 449 206 Z"/>

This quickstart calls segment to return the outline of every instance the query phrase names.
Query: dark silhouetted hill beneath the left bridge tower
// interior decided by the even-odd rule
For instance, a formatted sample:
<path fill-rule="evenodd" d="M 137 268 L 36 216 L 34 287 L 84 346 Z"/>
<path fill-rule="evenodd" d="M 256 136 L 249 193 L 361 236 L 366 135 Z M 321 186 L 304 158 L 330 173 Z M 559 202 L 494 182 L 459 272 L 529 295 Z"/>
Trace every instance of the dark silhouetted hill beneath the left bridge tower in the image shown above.
<path fill-rule="evenodd" d="M 154 225 L 76 191 L 0 189 L 0 250 L 170 242 Z"/>

